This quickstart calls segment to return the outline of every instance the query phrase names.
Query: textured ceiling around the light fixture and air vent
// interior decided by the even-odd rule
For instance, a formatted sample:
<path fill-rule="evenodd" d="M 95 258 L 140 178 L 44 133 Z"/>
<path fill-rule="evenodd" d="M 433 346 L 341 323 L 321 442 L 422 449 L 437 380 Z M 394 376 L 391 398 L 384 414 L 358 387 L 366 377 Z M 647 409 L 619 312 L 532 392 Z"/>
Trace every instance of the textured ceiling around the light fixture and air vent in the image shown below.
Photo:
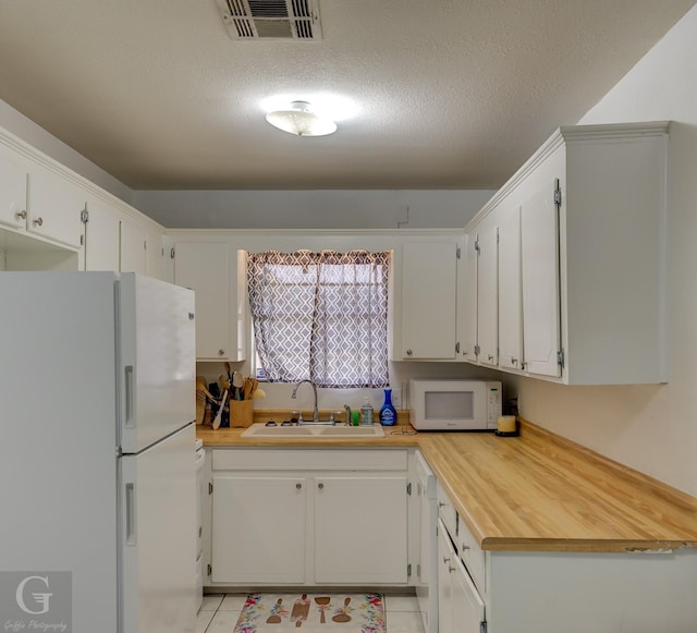
<path fill-rule="evenodd" d="M 493 188 L 695 0 L 319 0 L 233 41 L 215 0 L 2 0 L 0 98 L 135 190 Z M 325 137 L 274 95 L 357 107 Z"/>

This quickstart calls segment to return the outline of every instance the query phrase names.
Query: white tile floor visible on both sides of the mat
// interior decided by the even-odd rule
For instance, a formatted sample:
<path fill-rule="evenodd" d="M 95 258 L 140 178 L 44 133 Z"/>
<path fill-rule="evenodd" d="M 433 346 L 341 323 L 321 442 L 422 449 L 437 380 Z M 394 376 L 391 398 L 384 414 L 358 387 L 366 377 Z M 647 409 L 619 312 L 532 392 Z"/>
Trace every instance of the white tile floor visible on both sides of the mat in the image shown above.
<path fill-rule="evenodd" d="M 247 594 L 204 596 L 196 633 L 232 633 L 246 598 Z M 383 599 L 388 633 L 424 633 L 416 596 L 388 594 Z"/>

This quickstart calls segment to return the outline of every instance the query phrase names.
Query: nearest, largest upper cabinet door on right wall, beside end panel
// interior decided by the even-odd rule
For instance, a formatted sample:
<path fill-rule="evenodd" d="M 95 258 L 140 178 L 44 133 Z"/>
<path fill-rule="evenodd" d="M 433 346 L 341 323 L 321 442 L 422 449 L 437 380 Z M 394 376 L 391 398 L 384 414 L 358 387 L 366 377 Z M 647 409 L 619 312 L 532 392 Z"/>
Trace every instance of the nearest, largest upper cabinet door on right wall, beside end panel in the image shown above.
<path fill-rule="evenodd" d="M 525 369 L 559 376 L 559 227 L 554 182 L 542 183 L 521 207 Z"/>

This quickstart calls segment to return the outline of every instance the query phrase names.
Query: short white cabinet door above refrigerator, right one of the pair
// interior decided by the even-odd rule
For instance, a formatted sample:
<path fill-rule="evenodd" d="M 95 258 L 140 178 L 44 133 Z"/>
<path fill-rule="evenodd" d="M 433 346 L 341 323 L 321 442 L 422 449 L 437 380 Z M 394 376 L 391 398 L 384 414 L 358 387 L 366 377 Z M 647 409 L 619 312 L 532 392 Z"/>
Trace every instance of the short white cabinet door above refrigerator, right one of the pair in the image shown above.
<path fill-rule="evenodd" d="M 27 230 L 36 235 L 82 247 L 82 211 L 87 194 L 78 185 L 40 167 L 28 179 Z"/>

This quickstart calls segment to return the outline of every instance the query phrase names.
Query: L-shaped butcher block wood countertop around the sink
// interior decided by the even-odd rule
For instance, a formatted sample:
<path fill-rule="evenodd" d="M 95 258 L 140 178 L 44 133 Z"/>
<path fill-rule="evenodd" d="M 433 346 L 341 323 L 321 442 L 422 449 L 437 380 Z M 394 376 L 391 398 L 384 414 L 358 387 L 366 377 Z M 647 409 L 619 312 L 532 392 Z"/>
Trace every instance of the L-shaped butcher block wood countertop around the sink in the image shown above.
<path fill-rule="evenodd" d="M 418 447 L 479 545 L 499 551 L 697 548 L 697 499 L 534 424 L 521 437 L 419 433 L 380 439 L 241 438 L 198 427 L 208 447 Z M 407 426 L 408 429 L 411 427 Z"/>

